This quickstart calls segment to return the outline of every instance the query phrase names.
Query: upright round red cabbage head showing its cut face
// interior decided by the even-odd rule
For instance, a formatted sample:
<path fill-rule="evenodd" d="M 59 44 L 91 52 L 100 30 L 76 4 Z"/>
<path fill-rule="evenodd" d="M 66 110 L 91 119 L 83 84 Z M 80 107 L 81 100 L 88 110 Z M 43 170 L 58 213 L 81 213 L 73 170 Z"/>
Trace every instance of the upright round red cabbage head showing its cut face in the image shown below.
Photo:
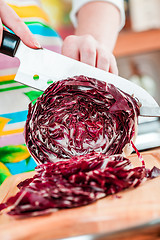
<path fill-rule="evenodd" d="M 136 100 L 112 84 L 77 76 L 53 83 L 29 105 L 25 140 L 39 164 L 93 151 L 121 154 L 138 114 Z"/>

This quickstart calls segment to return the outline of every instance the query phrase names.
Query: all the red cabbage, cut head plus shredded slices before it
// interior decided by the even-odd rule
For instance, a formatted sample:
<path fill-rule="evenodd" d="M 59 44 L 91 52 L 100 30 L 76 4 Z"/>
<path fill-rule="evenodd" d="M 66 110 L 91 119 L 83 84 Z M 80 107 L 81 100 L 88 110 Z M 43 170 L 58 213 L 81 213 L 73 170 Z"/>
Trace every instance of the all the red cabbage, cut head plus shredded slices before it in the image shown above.
<path fill-rule="evenodd" d="M 122 154 L 138 114 L 137 101 L 112 84 L 84 76 L 52 84 L 30 103 L 25 126 L 27 147 L 41 165 L 0 210 L 36 216 L 83 206 L 160 175 L 140 155 L 142 167 L 133 168 Z"/>

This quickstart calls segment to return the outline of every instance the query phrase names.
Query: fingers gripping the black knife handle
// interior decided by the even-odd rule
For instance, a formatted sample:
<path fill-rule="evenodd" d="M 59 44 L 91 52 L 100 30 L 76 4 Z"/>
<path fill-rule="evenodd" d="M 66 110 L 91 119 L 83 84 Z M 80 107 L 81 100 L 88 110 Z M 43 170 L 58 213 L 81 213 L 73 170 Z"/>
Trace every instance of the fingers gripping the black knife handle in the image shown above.
<path fill-rule="evenodd" d="M 19 36 L 28 47 L 41 47 L 25 23 L 15 13 L 15 11 L 4 2 L 4 0 L 0 0 L 0 46 L 2 42 L 3 29 L 5 29 L 2 24 Z"/>

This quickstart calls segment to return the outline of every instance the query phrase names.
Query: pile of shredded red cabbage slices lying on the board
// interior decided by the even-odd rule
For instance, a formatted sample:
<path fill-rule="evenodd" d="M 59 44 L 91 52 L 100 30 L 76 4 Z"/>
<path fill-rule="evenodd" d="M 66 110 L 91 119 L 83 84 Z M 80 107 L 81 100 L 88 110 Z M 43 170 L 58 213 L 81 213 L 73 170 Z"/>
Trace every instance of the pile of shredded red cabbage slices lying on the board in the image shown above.
<path fill-rule="evenodd" d="M 133 168 L 122 155 L 89 153 L 36 167 L 37 174 L 21 182 L 20 191 L 1 209 L 10 215 L 41 215 L 62 208 L 94 202 L 119 191 L 137 187 L 150 176 L 144 167 Z"/>

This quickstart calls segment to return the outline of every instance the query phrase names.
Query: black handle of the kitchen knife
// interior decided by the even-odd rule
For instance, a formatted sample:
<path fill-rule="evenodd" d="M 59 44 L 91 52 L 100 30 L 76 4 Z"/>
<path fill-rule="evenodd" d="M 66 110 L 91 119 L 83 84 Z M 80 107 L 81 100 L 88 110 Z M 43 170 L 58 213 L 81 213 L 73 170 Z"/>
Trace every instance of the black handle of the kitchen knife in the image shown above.
<path fill-rule="evenodd" d="M 14 57 L 19 43 L 20 38 L 17 35 L 3 30 L 0 53 L 4 53 L 8 56 Z"/>

